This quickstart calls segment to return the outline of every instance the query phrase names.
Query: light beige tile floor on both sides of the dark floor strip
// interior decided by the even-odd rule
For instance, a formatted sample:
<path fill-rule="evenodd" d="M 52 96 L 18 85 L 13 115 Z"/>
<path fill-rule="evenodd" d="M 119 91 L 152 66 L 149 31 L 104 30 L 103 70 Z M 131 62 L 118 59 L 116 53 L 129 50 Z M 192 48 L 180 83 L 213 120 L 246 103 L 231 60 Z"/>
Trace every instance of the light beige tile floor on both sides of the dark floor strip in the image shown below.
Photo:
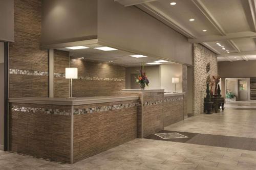
<path fill-rule="evenodd" d="M 252 136 L 256 130 L 256 111 L 227 109 L 218 114 L 201 114 L 168 129 Z M 255 160 L 255 151 L 152 139 L 135 139 L 73 165 L 0 151 L 1 170 L 255 170 Z"/>

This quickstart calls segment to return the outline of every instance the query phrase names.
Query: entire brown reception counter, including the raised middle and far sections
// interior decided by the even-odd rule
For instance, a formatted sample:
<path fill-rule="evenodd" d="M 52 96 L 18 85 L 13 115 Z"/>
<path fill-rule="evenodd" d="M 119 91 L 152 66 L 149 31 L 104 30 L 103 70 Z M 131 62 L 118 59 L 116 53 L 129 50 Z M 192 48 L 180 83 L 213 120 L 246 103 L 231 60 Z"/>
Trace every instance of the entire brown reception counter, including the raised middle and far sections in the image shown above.
<path fill-rule="evenodd" d="M 120 96 L 76 99 L 11 98 L 9 103 L 9 150 L 65 163 L 184 119 L 183 93 L 163 90 L 123 90 Z"/>

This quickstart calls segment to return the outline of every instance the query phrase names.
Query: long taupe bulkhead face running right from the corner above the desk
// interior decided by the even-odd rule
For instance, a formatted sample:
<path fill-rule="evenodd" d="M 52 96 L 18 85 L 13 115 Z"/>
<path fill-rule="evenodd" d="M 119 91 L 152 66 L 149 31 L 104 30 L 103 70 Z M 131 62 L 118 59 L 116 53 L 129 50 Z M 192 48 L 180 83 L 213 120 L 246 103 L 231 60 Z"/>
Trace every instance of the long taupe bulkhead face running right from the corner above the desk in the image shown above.
<path fill-rule="evenodd" d="M 98 1 L 98 38 L 108 44 L 192 65 L 187 38 L 136 7 Z"/>

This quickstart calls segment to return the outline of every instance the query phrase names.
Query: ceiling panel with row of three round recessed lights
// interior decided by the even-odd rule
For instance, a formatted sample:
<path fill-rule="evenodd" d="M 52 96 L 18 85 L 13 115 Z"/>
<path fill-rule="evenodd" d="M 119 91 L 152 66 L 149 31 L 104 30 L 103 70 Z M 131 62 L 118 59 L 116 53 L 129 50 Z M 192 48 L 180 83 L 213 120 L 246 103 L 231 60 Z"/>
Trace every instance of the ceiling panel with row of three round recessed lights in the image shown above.
<path fill-rule="evenodd" d="M 169 0 L 154 1 L 151 4 L 161 12 L 179 22 L 181 26 L 195 34 L 195 36 L 220 35 L 218 30 L 212 27 L 210 21 L 200 12 L 192 1 L 179 0 L 176 5 L 170 5 Z M 195 21 L 189 21 L 194 18 Z M 207 30 L 207 32 L 202 32 Z"/>

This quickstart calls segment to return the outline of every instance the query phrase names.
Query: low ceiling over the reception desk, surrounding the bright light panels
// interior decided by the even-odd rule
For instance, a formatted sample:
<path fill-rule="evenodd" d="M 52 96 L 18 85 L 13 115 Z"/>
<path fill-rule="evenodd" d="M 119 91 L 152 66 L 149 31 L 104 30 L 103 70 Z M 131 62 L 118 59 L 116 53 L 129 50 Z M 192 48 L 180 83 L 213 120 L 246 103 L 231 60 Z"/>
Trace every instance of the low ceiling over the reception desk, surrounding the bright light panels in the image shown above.
<path fill-rule="evenodd" d="M 102 51 L 97 50 L 95 47 L 102 47 L 99 44 L 90 44 L 83 45 L 89 48 L 79 49 L 79 50 L 71 50 L 69 48 L 57 48 L 57 50 L 68 51 L 70 52 L 71 57 L 81 58 L 89 61 L 97 61 L 97 62 L 109 62 L 112 64 L 123 65 L 123 66 L 140 66 L 142 62 L 145 65 L 150 65 L 147 63 L 152 63 L 154 61 L 158 61 L 160 59 L 154 58 L 151 56 L 143 57 L 143 58 L 135 58 L 131 57 L 131 55 L 138 55 L 122 50 L 114 50 L 114 51 Z M 67 46 L 68 47 L 68 46 Z M 156 62 L 155 62 L 156 63 Z M 173 64 L 174 62 L 162 62 L 162 64 Z M 157 64 L 160 65 L 160 64 Z"/>

